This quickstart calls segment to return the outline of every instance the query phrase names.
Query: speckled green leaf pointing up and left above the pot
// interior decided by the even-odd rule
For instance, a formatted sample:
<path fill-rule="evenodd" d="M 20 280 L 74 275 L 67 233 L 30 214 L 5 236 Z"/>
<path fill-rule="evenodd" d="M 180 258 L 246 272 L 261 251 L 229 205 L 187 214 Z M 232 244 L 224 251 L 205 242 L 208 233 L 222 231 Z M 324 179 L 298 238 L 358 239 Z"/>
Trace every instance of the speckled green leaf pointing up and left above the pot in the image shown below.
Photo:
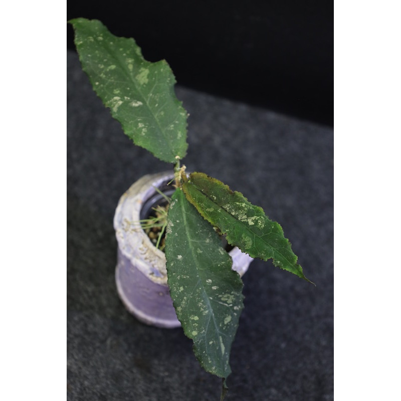
<path fill-rule="evenodd" d="M 82 68 L 125 134 L 163 161 L 182 159 L 187 113 L 175 97 L 166 61 L 146 61 L 133 39 L 112 35 L 100 21 L 70 23 Z"/>

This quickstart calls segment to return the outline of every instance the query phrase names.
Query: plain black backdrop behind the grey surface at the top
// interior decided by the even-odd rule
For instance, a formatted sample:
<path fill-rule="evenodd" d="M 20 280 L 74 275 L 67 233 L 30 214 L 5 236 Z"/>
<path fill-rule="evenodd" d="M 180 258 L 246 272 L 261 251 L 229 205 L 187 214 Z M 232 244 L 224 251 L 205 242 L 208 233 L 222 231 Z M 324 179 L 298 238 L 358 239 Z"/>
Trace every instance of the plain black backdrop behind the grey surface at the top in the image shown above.
<path fill-rule="evenodd" d="M 333 5 L 317 0 L 70 1 L 166 59 L 180 85 L 333 124 Z M 68 48 L 74 49 L 68 26 Z"/>

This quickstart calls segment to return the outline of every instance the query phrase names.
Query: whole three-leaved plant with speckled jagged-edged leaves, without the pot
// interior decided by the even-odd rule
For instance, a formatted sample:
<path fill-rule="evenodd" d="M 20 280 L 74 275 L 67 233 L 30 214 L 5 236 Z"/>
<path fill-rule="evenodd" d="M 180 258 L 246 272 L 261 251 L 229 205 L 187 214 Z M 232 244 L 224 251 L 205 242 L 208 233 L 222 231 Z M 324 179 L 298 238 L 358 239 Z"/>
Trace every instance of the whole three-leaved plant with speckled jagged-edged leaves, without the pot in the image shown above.
<path fill-rule="evenodd" d="M 203 172 L 185 173 L 188 113 L 174 93 L 166 61 L 146 61 L 133 39 L 112 35 L 97 20 L 71 20 L 75 45 L 93 89 L 124 133 L 171 164 L 175 191 L 168 207 L 164 252 L 173 305 L 203 368 L 223 379 L 243 305 L 243 283 L 220 235 L 252 258 L 309 281 L 281 226 L 240 192 Z"/>

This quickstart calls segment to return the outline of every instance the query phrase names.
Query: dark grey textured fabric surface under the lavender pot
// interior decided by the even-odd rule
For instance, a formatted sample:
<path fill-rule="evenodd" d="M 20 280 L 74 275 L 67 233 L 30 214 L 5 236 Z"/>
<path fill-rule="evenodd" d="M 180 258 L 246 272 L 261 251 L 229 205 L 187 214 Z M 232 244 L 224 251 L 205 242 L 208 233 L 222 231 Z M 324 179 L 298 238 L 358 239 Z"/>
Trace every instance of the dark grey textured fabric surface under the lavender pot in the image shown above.
<path fill-rule="evenodd" d="M 68 52 L 67 399 L 218 400 L 180 328 L 138 322 L 114 283 L 120 195 L 169 169 L 132 144 Z M 231 351 L 228 401 L 333 399 L 333 130 L 182 87 L 187 169 L 261 206 L 316 287 L 255 260 Z"/>

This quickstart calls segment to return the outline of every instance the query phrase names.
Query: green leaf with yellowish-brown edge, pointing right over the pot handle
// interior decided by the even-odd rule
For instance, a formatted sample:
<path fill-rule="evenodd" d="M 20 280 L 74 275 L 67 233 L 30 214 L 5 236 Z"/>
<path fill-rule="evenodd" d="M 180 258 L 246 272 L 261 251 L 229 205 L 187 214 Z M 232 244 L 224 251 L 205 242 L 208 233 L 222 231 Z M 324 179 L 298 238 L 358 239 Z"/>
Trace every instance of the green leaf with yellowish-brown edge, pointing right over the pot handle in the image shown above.
<path fill-rule="evenodd" d="M 290 242 L 281 226 L 270 220 L 262 208 L 252 205 L 240 192 L 233 192 L 223 182 L 195 172 L 184 182 L 189 202 L 213 226 L 227 234 L 227 241 L 252 258 L 268 260 L 281 269 L 309 281 L 297 264 Z"/>

